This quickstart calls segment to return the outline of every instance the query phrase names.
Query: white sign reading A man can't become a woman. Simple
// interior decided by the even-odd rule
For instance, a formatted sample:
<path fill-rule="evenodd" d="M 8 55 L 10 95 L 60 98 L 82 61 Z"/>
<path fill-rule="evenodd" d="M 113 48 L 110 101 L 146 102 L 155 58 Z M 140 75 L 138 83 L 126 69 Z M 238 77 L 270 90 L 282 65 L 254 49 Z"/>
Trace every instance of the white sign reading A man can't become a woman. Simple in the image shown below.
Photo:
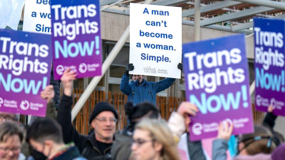
<path fill-rule="evenodd" d="M 181 8 L 130 3 L 130 74 L 180 78 Z"/>

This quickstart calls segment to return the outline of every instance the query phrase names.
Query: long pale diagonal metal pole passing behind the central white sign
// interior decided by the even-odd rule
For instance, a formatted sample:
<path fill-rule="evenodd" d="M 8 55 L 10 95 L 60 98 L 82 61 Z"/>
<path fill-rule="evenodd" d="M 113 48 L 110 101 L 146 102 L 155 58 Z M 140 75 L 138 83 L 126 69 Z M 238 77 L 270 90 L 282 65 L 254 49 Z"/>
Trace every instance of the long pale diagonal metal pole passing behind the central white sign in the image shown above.
<path fill-rule="evenodd" d="M 145 0 L 144 4 L 150 4 L 152 3 L 152 0 Z M 82 106 L 85 104 L 85 102 L 88 100 L 89 96 L 92 94 L 93 90 L 95 87 L 98 85 L 100 82 L 101 78 L 107 71 L 107 69 L 110 67 L 111 63 L 114 61 L 114 59 L 117 57 L 118 53 L 126 43 L 127 39 L 130 36 L 130 25 L 126 28 L 108 57 L 105 59 L 104 63 L 102 64 L 102 75 L 101 76 L 96 76 L 94 77 L 83 94 L 80 96 L 78 99 L 77 103 L 74 105 L 72 111 L 71 111 L 71 121 L 74 120 L 74 118 L 77 116 L 78 112 L 81 110 Z"/>

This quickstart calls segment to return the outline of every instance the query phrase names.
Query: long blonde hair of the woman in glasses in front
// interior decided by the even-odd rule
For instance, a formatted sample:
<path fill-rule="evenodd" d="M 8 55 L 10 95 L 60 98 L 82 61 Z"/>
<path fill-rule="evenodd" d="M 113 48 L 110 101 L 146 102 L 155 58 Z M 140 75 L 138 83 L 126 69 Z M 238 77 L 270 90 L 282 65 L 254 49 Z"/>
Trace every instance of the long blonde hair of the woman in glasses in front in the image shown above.
<path fill-rule="evenodd" d="M 177 145 L 174 140 L 170 129 L 166 122 L 158 119 L 142 119 L 136 126 L 135 129 L 141 129 L 150 132 L 150 137 L 155 142 L 162 144 L 160 155 L 163 160 L 179 160 L 179 153 Z"/>

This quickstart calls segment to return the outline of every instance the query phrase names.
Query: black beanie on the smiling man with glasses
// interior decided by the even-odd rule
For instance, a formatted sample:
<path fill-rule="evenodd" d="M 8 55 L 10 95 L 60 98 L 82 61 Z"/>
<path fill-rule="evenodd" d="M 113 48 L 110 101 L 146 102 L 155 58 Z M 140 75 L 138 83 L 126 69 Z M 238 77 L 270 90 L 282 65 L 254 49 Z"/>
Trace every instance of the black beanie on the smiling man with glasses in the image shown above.
<path fill-rule="evenodd" d="M 118 113 L 113 106 L 111 106 L 108 102 L 99 102 L 96 104 L 94 110 L 92 111 L 91 117 L 89 118 L 89 124 L 91 124 L 92 120 L 103 111 L 113 112 L 115 118 L 118 119 Z"/>

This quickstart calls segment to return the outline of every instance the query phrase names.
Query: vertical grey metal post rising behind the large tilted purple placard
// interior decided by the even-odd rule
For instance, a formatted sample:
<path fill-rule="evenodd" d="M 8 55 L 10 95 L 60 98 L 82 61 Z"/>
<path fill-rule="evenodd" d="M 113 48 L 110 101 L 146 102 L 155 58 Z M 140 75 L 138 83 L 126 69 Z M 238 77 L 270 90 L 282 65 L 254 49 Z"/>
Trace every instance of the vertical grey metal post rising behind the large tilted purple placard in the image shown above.
<path fill-rule="evenodd" d="M 200 41 L 200 5 L 201 0 L 195 0 L 195 14 L 194 14 L 194 41 Z"/>

